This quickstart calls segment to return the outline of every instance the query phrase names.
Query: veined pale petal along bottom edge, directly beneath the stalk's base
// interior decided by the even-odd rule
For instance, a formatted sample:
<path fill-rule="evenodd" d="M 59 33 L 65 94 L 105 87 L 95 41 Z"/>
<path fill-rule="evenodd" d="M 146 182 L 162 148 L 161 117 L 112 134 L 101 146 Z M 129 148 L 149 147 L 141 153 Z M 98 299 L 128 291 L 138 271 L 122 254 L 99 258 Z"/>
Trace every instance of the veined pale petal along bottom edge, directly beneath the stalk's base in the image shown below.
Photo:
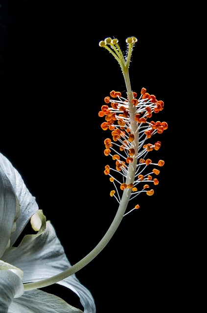
<path fill-rule="evenodd" d="M 41 290 L 25 291 L 14 299 L 8 313 L 83 313 L 54 294 Z"/>

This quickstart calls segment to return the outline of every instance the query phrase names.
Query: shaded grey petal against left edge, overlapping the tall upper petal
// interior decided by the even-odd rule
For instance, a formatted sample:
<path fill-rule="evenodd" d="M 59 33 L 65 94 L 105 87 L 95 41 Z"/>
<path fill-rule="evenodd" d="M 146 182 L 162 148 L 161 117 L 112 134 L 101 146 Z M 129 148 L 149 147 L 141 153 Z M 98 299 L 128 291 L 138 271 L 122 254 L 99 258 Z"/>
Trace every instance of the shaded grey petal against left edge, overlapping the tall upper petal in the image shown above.
<path fill-rule="evenodd" d="M 0 257 L 10 244 L 18 214 L 19 202 L 10 180 L 0 167 Z"/>

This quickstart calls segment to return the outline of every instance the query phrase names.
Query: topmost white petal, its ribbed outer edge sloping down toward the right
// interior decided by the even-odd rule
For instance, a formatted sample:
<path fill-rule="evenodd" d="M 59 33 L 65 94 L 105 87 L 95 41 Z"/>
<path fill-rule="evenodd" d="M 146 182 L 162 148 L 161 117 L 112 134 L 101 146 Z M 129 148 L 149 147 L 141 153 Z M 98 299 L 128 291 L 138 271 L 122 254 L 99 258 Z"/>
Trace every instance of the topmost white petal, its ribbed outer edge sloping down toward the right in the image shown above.
<path fill-rule="evenodd" d="M 15 243 L 23 228 L 30 220 L 31 216 L 38 210 L 35 198 L 30 194 L 26 188 L 21 175 L 13 167 L 11 162 L 0 153 L 0 167 L 10 180 L 17 198 L 20 202 L 20 215 L 17 220 L 16 231 L 11 236 L 11 245 Z"/>

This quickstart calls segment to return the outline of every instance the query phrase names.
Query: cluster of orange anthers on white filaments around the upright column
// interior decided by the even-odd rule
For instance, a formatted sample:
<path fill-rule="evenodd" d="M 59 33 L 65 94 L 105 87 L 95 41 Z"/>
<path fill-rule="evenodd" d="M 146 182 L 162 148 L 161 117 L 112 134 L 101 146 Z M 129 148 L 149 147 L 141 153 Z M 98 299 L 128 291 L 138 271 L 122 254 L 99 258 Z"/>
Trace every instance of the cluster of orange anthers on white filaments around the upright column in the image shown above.
<path fill-rule="evenodd" d="M 149 165 L 164 165 L 163 160 L 160 160 L 158 163 L 152 163 L 151 159 L 145 159 L 148 152 L 152 150 L 157 151 L 161 147 L 160 141 L 154 144 L 146 143 L 145 141 L 156 133 L 162 134 L 167 129 L 166 122 L 148 121 L 152 117 L 153 112 L 158 113 L 163 110 L 164 103 L 163 101 L 158 101 L 155 95 L 147 93 L 145 88 L 141 89 L 139 99 L 137 99 L 136 92 L 133 92 L 133 97 L 131 103 L 129 103 L 128 99 L 123 98 L 120 92 L 113 90 L 110 92 L 110 97 L 105 97 L 105 105 L 101 107 L 101 111 L 98 113 L 100 117 L 105 116 L 105 122 L 101 124 L 102 129 L 104 131 L 109 129 L 112 132 L 113 141 L 110 138 L 104 140 L 104 154 L 105 156 L 112 156 L 113 160 L 115 160 L 115 169 L 106 165 L 104 173 L 110 176 L 110 181 L 115 185 L 118 194 L 118 198 L 115 198 L 118 202 L 120 202 L 120 196 L 116 187 L 117 183 L 120 185 L 121 190 L 131 189 L 130 200 L 143 191 L 149 196 L 153 195 L 154 190 L 149 189 L 149 184 L 150 182 L 153 182 L 154 185 L 159 183 L 158 179 L 153 179 L 152 175 L 158 175 L 160 171 L 154 168 L 148 174 L 143 175 L 143 172 Z M 131 110 L 131 112 L 134 112 L 133 114 L 130 114 L 130 104 L 136 108 L 134 111 Z M 136 132 L 132 132 L 132 122 L 137 122 Z M 135 136 L 138 136 L 138 145 L 134 143 Z M 115 150 L 115 147 L 119 149 Z M 112 150 L 115 154 L 112 153 Z M 134 158 L 136 158 L 136 162 L 133 162 Z M 133 181 L 127 184 L 126 178 L 130 164 L 131 166 L 136 166 L 136 170 L 134 171 Z M 116 179 L 111 174 L 111 171 L 120 173 L 122 181 Z M 140 182 L 144 183 L 144 185 L 141 190 L 138 190 L 137 186 Z M 110 195 L 115 196 L 115 190 L 112 190 Z M 139 208 L 139 205 L 136 205 L 135 208 Z"/>

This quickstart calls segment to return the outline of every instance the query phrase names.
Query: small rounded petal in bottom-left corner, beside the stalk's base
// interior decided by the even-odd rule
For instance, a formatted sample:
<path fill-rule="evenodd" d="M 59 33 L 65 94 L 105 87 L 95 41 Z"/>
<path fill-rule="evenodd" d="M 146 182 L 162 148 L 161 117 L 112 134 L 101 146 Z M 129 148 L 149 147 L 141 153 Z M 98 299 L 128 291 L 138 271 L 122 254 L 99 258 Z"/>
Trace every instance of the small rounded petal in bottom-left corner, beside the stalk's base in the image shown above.
<path fill-rule="evenodd" d="M 8 312 L 14 297 L 23 294 L 23 283 L 18 275 L 10 269 L 0 270 L 0 313 Z"/>

